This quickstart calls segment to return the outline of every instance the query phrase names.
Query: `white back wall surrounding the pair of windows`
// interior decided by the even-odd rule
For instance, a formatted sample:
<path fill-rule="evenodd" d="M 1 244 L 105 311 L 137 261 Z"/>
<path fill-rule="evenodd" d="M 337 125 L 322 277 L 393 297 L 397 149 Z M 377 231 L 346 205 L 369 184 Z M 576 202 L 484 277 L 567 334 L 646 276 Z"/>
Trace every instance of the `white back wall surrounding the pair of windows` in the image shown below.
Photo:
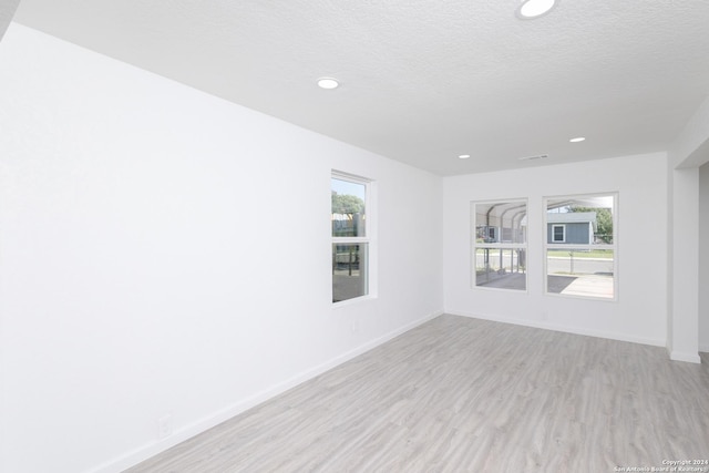
<path fill-rule="evenodd" d="M 446 177 L 444 298 L 451 313 L 664 346 L 667 287 L 664 153 Z M 617 301 L 543 295 L 543 197 L 618 192 Z M 470 287 L 470 203 L 528 199 L 527 291 Z"/>

